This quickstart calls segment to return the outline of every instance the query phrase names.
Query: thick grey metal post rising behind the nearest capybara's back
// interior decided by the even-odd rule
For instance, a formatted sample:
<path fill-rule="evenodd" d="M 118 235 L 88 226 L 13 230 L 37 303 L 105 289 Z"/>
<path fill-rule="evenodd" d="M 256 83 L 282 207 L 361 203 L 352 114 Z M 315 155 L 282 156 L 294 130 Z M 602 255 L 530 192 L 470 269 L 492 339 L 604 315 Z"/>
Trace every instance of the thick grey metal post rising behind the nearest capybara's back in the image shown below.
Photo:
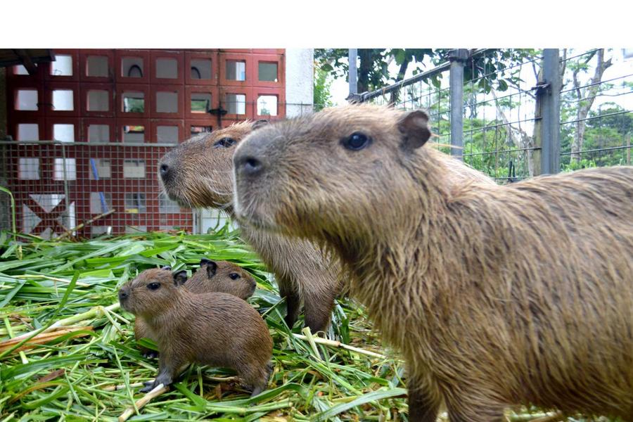
<path fill-rule="evenodd" d="M 543 51 L 541 106 L 541 174 L 560 171 L 561 155 L 561 70 L 558 49 Z"/>

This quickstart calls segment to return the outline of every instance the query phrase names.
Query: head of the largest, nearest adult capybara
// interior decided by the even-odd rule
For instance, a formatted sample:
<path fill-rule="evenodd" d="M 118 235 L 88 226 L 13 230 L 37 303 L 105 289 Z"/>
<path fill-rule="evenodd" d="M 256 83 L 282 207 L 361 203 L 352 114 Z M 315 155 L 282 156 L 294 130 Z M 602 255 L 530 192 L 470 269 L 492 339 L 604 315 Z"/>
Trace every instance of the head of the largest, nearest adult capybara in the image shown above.
<path fill-rule="evenodd" d="M 423 111 L 369 105 L 263 127 L 234 155 L 236 215 L 262 229 L 310 237 L 314 230 L 357 234 L 354 226 L 371 226 L 377 212 L 381 221 L 396 222 L 405 212 L 402 198 L 415 190 L 417 176 L 407 167 L 421 161 L 411 158 L 439 154 L 420 148 L 430 136 Z"/>

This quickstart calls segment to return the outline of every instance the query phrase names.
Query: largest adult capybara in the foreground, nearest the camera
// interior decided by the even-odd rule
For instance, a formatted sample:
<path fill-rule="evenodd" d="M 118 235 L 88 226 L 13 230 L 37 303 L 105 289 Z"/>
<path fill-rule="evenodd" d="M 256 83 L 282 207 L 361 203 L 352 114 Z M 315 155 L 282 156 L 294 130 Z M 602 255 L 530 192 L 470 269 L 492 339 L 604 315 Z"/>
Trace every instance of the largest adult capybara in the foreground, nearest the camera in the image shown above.
<path fill-rule="evenodd" d="M 335 252 L 409 367 L 409 416 L 633 421 L 633 167 L 456 188 L 428 116 L 331 108 L 237 148 L 235 212 Z"/>

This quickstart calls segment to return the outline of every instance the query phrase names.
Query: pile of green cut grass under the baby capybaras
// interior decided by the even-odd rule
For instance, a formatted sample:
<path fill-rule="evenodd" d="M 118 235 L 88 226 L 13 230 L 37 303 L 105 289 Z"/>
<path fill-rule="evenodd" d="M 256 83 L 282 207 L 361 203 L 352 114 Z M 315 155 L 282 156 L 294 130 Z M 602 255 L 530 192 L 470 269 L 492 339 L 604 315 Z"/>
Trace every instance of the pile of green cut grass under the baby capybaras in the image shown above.
<path fill-rule="evenodd" d="M 274 340 L 269 388 L 249 399 L 234 372 L 193 365 L 130 420 L 369 421 L 393 420 L 407 409 L 404 366 L 382 356 L 362 311 L 340 300 L 330 333 L 359 352 L 317 344 L 321 339 L 301 335 L 302 321 L 291 333 L 269 274 L 228 227 L 83 243 L 10 240 L 0 238 L 0 421 L 116 420 L 143 397 L 141 383 L 158 369 L 137 350 L 134 316 L 118 307 L 117 289 L 152 267 L 195 271 L 202 257 L 236 262 L 257 279 L 249 301 Z M 61 326 L 44 331 L 51 324 Z M 24 342 L 26 333 L 37 335 Z"/>

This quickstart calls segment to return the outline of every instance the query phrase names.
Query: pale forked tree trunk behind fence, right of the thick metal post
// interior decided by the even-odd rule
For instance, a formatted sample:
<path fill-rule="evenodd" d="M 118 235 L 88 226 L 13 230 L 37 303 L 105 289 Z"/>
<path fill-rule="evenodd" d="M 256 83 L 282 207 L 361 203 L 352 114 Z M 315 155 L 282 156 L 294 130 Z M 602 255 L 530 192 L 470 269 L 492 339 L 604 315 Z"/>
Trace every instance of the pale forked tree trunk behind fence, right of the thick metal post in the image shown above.
<path fill-rule="evenodd" d="M 597 51 L 598 64 L 594 72 L 594 77 L 589 81 L 589 87 L 582 89 L 580 87 L 580 80 L 578 79 L 578 73 L 580 69 L 577 69 L 573 73 L 573 83 L 576 93 L 576 99 L 578 101 L 578 110 L 576 113 L 576 130 L 574 133 L 574 140 L 571 144 L 571 159 L 573 162 L 580 162 L 580 151 L 582 151 L 582 144 L 584 143 L 584 132 L 587 129 L 587 115 L 591 110 L 596 94 L 600 90 L 599 82 L 602 80 L 604 71 L 611 65 L 611 59 L 604 60 L 604 49 Z M 590 56 L 585 63 L 591 60 L 594 55 Z"/>

